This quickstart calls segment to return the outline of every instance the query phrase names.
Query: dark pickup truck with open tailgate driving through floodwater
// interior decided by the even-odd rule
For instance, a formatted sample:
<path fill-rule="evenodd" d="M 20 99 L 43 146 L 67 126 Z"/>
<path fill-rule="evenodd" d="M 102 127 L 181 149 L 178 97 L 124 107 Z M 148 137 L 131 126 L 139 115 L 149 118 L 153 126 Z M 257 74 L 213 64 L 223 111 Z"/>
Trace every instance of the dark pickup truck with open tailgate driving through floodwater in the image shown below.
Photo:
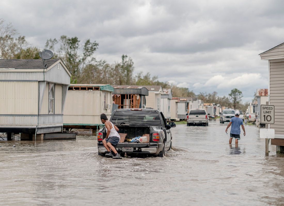
<path fill-rule="evenodd" d="M 154 155 L 164 157 L 165 151 L 172 147 L 171 127 L 174 122 L 167 124 L 163 113 L 156 109 L 116 109 L 110 117 L 112 122 L 119 129 L 120 142 L 115 149 L 121 156 L 148 156 Z M 147 142 L 130 142 L 132 138 L 146 136 Z M 105 127 L 97 134 L 98 154 L 104 156 L 107 153 L 103 146 L 103 139 L 106 137 Z"/>

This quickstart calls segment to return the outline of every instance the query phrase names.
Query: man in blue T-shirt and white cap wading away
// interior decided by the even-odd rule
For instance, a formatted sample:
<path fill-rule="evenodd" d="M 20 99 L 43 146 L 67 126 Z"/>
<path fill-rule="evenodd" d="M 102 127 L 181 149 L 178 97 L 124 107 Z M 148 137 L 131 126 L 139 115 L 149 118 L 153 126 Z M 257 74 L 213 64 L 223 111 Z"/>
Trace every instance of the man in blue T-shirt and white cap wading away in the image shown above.
<path fill-rule="evenodd" d="M 240 137 L 240 134 L 241 134 L 240 126 L 242 126 L 242 129 L 244 131 L 244 136 L 246 136 L 243 120 L 241 118 L 239 118 L 239 116 L 240 116 L 240 112 L 236 111 L 235 117 L 231 118 L 231 121 L 229 122 L 229 124 L 228 124 L 228 126 L 225 130 L 225 132 L 227 133 L 228 128 L 232 125 L 231 131 L 230 131 L 229 144 L 232 143 L 233 138 L 235 138 L 235 144 L 236 145 L 238 144 L 238 140 L 241 139 L 241 137 Z"/>

